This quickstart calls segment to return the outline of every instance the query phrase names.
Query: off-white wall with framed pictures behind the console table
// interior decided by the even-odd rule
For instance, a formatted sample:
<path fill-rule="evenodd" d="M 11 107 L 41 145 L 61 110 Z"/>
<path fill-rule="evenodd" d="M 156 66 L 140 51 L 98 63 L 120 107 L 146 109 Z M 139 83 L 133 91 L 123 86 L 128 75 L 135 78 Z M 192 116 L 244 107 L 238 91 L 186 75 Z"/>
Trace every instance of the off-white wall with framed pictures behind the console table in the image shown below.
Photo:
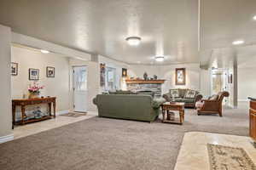
<path fill-rule="evenodd" d="M 31 48 L 12 47 L 12 62 L 18 63 L 18 76 L 12 76 L 12 99 L 28 97 L 27 88 L 34 81 L 28 79 L 29 68 L 39 69 L 40 85 L 43 96 L 56 97 L 56 110 L 69 110 L 69 63 L 67 57 L 59 54 L 42 54 Z M 55 77 L 46 77 L 46 67 L 55 67 Z M 46 108 L 42 105 L 42 107 Z M 19 111 L 19 110 L 18 110 Z"/>

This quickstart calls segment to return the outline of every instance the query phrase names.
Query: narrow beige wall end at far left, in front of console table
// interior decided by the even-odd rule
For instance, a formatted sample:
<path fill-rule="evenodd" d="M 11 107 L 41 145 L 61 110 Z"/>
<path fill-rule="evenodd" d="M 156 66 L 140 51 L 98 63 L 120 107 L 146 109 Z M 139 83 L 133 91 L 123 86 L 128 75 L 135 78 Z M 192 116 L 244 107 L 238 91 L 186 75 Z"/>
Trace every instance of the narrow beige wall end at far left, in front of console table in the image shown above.
<path fill-rule="evenodd" d="M 10 60 L 11 60 L 11 30 L 9 27 L 0 25 L 0 139 L 12 133 L 11 118 L 11 80 L 10 80 Z M 1 142 L 1 141 L 0 141 Z"/>

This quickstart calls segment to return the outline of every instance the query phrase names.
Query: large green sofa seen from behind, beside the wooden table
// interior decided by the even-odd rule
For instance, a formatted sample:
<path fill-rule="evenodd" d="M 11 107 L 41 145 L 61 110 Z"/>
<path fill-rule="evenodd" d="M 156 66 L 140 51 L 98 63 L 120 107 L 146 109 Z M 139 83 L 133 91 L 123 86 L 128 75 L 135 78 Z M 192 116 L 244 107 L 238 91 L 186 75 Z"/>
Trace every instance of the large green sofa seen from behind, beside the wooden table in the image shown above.
<path fill-rule="evenodd" d="M 98 94 L 93 103 L 102 117 L 154 122 L 165 99 L 145 94 Z"/>

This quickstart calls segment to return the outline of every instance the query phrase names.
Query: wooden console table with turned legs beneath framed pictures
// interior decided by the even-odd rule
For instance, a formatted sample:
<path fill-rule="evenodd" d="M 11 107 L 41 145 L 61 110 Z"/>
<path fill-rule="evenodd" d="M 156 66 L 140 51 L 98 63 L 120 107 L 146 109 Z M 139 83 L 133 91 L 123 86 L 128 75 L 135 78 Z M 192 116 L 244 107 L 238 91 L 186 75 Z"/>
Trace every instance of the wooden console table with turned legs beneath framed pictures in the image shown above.
<path fill-rule="evenodd" d="M 38 104 L 48 104 L 49 105 L 49 116 L 42 116 L 41 118 L 33 118 L 29 120 L 25 120 L 26 118 L 26 105 L 38 105 Z M 51 105 L 53 105 L 54 115 L 51 115 Z M 20 106 L 21 108 L 21 121 L 15 122 L 15 114 L 16 114 L 16 106 Z M 15 124 L 24 125 L 28 122 L 38 122 L 46 119 L 50 119 L 52 117 L 55 118 L 56 111 L 56 98 L 55 97 L 47 97 L 47 98 L 36 98 L 36 99 L 13 99 L 12 100 L 12 115 L 13 115 L 13 129 Z"/>

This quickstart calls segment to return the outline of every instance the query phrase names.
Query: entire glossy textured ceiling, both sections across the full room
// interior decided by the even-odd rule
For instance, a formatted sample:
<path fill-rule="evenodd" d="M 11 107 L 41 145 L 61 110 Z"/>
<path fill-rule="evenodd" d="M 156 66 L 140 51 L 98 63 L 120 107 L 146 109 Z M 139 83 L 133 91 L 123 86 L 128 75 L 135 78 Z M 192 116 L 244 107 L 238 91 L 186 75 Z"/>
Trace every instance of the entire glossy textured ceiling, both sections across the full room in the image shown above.
<path fill-rule="evenodd" d="M 162 54 L 167 57 L 162 64 L 201 65 L 240 50 L 237 56 L 255 56 L 255 50 L 243 50 L 256 44 L 255 0 L 201 0 L 200 11 L 198 6 L 198 0 L 1 0 L 0 23 L 131 64 L 150 64 Z M 142 37 L 141 45 L 129 46 L 130 36 Z M 237 39 L 246 43 L 234 48 Z"/>

